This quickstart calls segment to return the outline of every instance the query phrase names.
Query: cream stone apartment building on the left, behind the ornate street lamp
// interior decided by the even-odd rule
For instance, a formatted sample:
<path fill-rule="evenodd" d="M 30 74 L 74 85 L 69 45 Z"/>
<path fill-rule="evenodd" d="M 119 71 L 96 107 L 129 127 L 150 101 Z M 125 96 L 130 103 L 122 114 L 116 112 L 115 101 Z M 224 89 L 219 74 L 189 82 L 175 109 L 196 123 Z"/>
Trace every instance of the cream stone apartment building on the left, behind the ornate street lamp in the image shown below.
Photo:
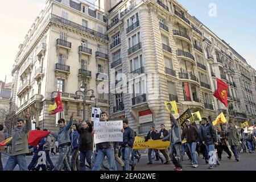
<path fill-rule="evenodd" d="M 108 36 L 104 11 L 90 3 L 72 0 L 46 1 L 46 8 L 36 17 L 28 31 L 12 70 L 13 105 L 16 114 L 28 107 L 34 126 L 57 130 L 57 119 L 68 119 L 72 111 L 82 116 L 82 96 L 76 90 L 84 81 L 93 89 L 96 100 L 86 96 L 87 116 L 90 108 L 109 110 Z M 57 90 L 61 93 L 63 114 L 49 115 Z M 88 93 L 90 94 L 90 93 Z M 90 95 L 89 95 L 90 96 Z"/>

